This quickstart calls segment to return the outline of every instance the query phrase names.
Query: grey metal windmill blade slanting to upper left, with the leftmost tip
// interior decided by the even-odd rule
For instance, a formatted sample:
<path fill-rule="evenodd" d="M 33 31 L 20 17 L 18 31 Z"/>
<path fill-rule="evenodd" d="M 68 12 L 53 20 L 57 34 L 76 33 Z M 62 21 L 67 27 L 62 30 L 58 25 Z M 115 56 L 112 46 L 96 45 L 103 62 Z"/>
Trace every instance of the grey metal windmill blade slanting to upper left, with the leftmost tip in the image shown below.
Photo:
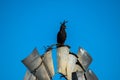
<path fill-rule="evenodd" d="M 22 62 L 29 71 L 38 78 L 38 80 L 50 80 L 37 49 L 34 49 L 28 57 L 22 60 Z"/>

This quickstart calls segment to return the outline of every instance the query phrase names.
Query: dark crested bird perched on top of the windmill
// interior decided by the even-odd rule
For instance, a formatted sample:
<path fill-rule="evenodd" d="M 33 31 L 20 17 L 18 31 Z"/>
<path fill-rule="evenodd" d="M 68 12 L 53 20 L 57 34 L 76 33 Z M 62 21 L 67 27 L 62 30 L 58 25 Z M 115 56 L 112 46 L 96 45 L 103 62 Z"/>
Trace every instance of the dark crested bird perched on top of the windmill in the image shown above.
<path fill-rule="evenodd" d="M 61 23 L 60 30 L 57 34 L 57 43 L 59 45 L 64 45 L 64 42 L 67 37 L 66 31 L 65 31 L 65 29 L 66 29 L 65 23 L 67 23 L 67 21 L 64 21 L 63 23 Z"/>

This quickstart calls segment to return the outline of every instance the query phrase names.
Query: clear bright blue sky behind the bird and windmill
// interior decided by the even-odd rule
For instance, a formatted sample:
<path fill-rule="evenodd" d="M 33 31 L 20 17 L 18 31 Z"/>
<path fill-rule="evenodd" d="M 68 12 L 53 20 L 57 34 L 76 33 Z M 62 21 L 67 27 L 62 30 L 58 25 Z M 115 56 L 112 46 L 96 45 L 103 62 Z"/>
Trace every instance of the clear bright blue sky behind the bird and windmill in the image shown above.
<path fill-rule="evenodd" d="M 22 80 L 21 60 L 35 47 L 43 54 L 43 46 L 56 43 L 63 20 L 71 51 L 81 46 L 90 53 L 99 80 L 120 80 L 119 0 L 0 0 L 1 80 Z"/>

